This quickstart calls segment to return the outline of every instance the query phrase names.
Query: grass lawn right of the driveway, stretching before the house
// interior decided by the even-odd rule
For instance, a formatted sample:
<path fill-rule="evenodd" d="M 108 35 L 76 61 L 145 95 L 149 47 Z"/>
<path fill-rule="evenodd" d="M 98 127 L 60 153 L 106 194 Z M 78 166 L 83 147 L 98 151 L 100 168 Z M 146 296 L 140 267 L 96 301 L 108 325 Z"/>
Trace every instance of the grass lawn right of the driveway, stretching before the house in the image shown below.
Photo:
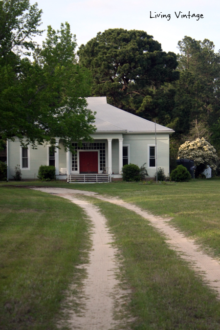
<path fill-rule="evenodd" d="M 6 183 L 12 184 L 12 182 Z M 118 196 L 155 215 L 169 216 L 171 223 L 204 248 L 220 257 L 220 179 L 192 180 L 176 184 L 66 182 L 13 182 L 13 184 L 66 187 Z M 210 251 L 209 251 L 210 253 Z"/>

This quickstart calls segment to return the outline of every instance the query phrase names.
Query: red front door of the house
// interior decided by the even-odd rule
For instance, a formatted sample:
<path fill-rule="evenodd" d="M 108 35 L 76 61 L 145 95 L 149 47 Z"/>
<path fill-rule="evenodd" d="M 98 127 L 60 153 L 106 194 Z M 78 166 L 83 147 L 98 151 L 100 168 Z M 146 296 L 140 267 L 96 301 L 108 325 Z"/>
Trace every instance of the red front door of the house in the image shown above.
<path fill-rule="evenodd" d="M 80 173 L 98 173 L 98 152 L 80 151 Z"/>

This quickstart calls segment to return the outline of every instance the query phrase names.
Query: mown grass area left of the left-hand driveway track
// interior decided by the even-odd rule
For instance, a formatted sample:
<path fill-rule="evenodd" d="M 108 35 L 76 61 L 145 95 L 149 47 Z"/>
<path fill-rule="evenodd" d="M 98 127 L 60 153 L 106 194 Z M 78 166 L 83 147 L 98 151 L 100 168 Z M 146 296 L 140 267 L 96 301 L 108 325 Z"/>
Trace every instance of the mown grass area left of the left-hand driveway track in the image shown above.
<path fill-rule="evenodd" d="M 65 290 L 83 276 L 89 228 L 64 198 L 0 187 L 0 330 L 57 329 Z"/>

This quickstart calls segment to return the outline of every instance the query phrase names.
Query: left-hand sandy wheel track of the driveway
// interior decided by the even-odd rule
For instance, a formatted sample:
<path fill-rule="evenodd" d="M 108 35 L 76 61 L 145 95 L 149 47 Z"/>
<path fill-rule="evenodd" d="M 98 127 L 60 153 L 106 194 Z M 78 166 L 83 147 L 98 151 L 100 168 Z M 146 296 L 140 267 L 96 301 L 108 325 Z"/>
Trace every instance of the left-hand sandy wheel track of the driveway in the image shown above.
<path fill-rule="evenodd" d="M 48 189 L 39 190 L 48 192 Z M 116 249 L 112 246 L 113 240 L 106 228 L 106 219 L 97 207 L 72 196 L 72 191 L 71 195 L 61 194 L 60 189 L 57 192 L 58 194 L 50 191 L 82 207 L 93 223 L 93 246 L 90 262 L 84 265 L 88 276 L 83 283 L 84 292 L 80 302 L 85 308 L 80 313 L 68 310 L 70 317 L 67 324 L 71 329 L 82 330 L 130 329 L 129 323 L 132 319 L 129 319 L 123 308 L 124 304 L 127 305 L 128 291 L 120 288 L 120 282 L 116 278 Z M 90 193 L 89 196 L 91 195 L 93 194 Z"/>

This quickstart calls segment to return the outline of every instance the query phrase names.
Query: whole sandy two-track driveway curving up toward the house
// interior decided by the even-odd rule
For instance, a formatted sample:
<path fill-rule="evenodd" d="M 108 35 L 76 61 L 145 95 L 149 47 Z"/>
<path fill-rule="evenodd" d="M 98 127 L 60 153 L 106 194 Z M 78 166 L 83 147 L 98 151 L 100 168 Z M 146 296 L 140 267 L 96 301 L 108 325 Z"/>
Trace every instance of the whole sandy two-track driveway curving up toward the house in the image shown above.
<path fill-rule="evenodd" d="M 110 330 L 118 327 L 119 321 L 116 321 L 114 316 L 114 297 L 125 295 L 125 292 L 119 288 L 119 282 L 115 277 L 115 269 L 117 268 L 116 251 L 111 244 L 112 238 L 105 224 L 106 219 L 100 214 L 98 208 L 83 199 L 77 198 L 77 195 L 93 196 L 120 205 L 149 220 L 154 227 L 167 237 L 166 242 L 170 247 L 178 251 L 181 258 L 190 261 L 192 268 L 202 274 L 205 282 L 218 291 L 220 298 L 220 262 L 203 253 L 193 240 L 186 238 L 169 225 L 169 219 L 155 217 L 133 204 L 126 203 L 118 198 L 106 198 L 97 193 L 66 188 L 36 187 L 32 189 L 71 200 L 86 211 L 94 224 L 93 248 L 90 254 L 90 263 L 87 266 L 88 278 L 85 282 L 86 310 L 81 317 L 72 314 L 70 320 L 72 329 Z M 113 292 L 117 292 L 117 294 L 113 294 Z"/>

